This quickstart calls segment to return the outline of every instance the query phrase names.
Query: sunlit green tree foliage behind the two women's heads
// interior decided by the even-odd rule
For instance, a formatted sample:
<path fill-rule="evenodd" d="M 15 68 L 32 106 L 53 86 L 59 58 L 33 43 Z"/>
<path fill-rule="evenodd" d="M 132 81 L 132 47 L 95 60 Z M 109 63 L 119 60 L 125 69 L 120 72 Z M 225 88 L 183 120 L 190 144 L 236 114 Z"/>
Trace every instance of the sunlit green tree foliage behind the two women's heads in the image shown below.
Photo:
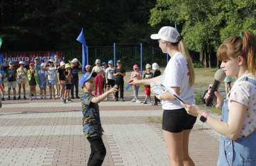
<path fill-rule="evenodd" d="M 177 24 L 189 50 L 207 52 L 209 61 L 225 38 L 245 29 L 255 32 L 256 1 L 157 0 L 149 24 Z M 211 63 L 209 63 L 211 64 Z"/>

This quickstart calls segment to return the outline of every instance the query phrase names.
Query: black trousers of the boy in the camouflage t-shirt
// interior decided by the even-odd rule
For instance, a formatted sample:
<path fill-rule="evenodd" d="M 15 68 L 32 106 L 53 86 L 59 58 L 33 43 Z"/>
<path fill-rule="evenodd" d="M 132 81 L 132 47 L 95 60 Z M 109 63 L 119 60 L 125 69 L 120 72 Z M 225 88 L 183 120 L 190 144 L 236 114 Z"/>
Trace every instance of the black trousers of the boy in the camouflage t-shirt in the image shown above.
<path fill-rule="evenodd" d="M 91 144 L 91 155 L 89 157 L 88 166 L 100 166 L 102 165 L 106 156 L 106 147 L 102 141 L 102 137 L 88 137 L 87 140 Z"/>

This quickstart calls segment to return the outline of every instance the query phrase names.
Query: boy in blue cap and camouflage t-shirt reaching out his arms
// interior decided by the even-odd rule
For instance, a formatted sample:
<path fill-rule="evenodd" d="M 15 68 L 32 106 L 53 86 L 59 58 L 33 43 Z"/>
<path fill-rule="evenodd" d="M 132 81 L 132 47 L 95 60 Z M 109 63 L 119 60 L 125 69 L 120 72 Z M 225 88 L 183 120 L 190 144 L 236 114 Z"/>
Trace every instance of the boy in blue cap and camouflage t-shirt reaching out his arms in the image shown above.
<path fill-rule="evenodd" d="M 97 73 L 84 73 L 79 84 L 84 89 L 81 98 L 83 109 L 83 132 L 86 139 L 90 142 L 91 155 L 88 160 L 88 165 L 102 165 L 106 156 L 106 147 L 102 141 L 102 132 L 104 132 L 100 123 L 100 112 L 98 103 L 102 102 L 109 94 L 115 91 L 117 86 L 98 97 L 95 97 L 92 92 L 95 89 L 95 80 Z"/>

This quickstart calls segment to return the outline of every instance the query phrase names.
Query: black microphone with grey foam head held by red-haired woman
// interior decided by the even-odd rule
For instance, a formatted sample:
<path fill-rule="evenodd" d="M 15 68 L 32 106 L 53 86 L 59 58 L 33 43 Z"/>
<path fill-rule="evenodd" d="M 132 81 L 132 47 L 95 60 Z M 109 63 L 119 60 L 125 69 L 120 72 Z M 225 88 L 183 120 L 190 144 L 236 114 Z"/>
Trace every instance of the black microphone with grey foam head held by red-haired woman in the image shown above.
<path fill-rule="evenodd" d="M 214 75 L 215 81 L 214 81 L 214 84 L 212 86 L 210 96 L 207 99 L 207 102 L 205 103 L 206 106 L 210 106 L 211 105 L 212 100 L 213 100 L 213 98 L 215 96 L 214 92 L 218 90 L 218 88 L 220 86 L 220 83 L 225 79 L 225 77 L 226 77 L 226 74 L 225 74 L 225 72 L 222 69 L 217 70 L 217 72 Z"/>

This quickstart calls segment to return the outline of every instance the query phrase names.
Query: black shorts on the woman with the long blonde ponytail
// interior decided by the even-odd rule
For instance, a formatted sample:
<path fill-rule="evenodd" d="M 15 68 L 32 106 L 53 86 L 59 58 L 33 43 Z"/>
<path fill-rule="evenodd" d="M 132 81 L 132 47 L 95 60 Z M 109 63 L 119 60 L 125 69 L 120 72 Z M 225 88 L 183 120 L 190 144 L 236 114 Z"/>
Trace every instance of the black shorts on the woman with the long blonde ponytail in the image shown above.
<path fill-rule="evenodd" d="M 189 115 L 184 108 L 164 110 L 162 129 L 171 133 L 191 130 L 196 123 L 196 117 Z"/>

